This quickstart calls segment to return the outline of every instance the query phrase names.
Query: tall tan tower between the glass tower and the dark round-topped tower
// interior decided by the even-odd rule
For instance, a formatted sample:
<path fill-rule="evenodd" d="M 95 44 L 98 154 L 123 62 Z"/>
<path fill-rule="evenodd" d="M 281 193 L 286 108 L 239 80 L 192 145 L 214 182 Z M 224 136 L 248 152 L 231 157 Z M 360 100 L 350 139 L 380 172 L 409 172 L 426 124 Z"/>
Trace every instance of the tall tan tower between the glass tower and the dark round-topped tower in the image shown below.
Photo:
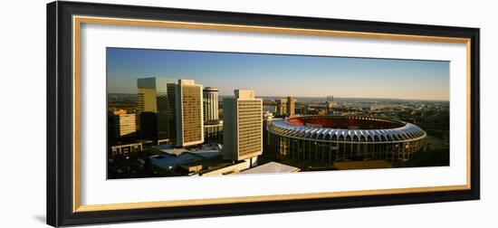
<path fill-rule="evenodd" d="M 177 90 L 177 147 L 204 142 L 202 85 L 193 80 L 178 80 Z"/>

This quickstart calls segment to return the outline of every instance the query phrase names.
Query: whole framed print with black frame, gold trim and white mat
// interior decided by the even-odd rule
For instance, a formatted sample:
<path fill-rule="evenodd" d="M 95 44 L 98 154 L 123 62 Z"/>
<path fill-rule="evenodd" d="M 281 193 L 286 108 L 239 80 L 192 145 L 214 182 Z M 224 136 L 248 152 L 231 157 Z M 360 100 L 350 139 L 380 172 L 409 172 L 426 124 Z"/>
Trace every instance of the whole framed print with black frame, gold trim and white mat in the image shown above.
<path fill-rule="evenodd" d="M 479 199 L 479 29 L 47 5 L 53 226 Z"/>

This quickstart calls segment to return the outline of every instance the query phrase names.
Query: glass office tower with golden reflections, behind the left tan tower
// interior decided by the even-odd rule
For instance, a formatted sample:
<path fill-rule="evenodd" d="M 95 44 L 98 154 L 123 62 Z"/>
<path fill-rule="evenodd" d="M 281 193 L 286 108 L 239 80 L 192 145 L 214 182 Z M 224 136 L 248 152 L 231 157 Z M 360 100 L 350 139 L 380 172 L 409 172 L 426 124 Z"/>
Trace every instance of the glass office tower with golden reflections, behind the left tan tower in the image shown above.
<path fill-rule="evenodd" d="M 177 81 L 164 78 L 143 78 L 137 79 L 137 108 L 139 115 L 139 131 L 140 135 L 152 136 L 153 139 L 175 139 L 176 124 L 175 124 L 175 85 Z M 171 103 L 171 100 L 173 102 Z M 148 113 L 148 114 L 144 114 Z M 152 114 L 156 116 L 154 121 Z M 156 124 L 154 127 L 156 132 L 145 132 L 152 130 L 152 126 L 145 126 L 142 119 L 147 119 L 147 124 Z"/>

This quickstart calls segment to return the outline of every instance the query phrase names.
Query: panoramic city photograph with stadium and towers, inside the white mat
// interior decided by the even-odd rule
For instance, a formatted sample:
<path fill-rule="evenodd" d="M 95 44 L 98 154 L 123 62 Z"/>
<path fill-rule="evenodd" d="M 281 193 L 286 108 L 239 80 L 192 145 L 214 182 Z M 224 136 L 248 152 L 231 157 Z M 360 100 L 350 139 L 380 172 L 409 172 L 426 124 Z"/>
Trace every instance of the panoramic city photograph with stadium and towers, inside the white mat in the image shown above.
<path fill-rule="evenodd" d="M 449 166 L 449 62 L 108 47 L 107 177 Z"/>

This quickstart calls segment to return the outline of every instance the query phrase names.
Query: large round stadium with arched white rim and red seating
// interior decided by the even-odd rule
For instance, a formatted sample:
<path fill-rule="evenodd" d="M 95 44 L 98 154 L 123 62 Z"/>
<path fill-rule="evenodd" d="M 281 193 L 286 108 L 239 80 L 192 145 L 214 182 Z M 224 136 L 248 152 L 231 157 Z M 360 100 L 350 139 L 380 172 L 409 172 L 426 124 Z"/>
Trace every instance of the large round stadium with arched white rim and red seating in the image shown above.
<path fill-rule="evenodd" d="M 424 147 L 417 125 L 388 119 L 302 116 L 273 121 L 266 156 L 329 165 L 337 161 L 407 161 Z"/>

